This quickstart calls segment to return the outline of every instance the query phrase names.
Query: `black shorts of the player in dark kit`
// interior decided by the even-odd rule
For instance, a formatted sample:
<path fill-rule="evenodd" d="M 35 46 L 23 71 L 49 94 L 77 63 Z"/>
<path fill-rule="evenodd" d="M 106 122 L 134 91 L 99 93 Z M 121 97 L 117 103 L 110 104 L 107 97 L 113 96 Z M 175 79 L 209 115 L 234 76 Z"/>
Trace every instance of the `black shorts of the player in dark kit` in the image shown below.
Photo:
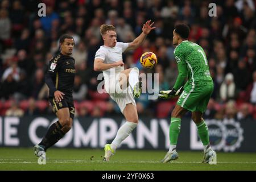
<path fill-rule="evenodd" d="M 60 102 L 56 102 L 54 97 L 49 98 L 49 102 L 52 107 L 53 113 L 57 113 L 58 110 L 68 107 L 69 115 L 72 119 L 74 119 L 75 115 L 75 106 L 72 98 L 63 98 Z"/>

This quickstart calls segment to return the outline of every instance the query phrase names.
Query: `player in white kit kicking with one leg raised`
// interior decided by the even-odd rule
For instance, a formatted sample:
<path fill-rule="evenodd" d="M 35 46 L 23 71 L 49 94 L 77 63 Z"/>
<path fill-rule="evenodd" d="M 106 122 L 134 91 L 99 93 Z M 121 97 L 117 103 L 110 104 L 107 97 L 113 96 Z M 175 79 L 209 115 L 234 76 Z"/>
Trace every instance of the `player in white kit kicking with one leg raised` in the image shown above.
<path fill-rule="evenodd" d="M 110 97 L 117 102 L 121 112 L 126 118 L 126 123 L 117 131 L 113 142 L 104 147 L 104 160 L 109 161 L 115 150 L 137 127 L 139 118 L 134 100 L 141 95 L 142 82 L 139 81 L 138 68 L 123 68 L 122 53 L 136 49 L 146 39 L 147 34 L 155 27 L 148 20 L 142 27 L 142 33 L 133 42 L 117 42 L 115 27 L 110 24 L 102 24 L 100 27 L 104 46 L 96 52 L 94 59 L 94 71 L 102 71 L 105 80 L 105 90 Z"/>

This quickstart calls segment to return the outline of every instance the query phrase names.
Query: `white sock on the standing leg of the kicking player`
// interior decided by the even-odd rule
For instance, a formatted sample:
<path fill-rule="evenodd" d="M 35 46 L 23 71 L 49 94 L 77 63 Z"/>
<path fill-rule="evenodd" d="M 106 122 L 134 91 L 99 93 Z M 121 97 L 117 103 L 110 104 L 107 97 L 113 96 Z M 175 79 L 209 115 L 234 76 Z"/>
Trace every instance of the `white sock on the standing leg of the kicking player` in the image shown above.
<path fill-rule="evenodd" d="M 119 146 L 119 144 L 121 144 L 121 142 L 131 134 L 131 131 L 133 131 L 135 127 L 137 127 L 137 125 L 138 123 L 133 123 L 129 121 L 123 124 L 117 131 L 117 135 L 115 136 L 115 139 L 113 140 L 110 147 L 114 151 L 117 150 L 117 147 Z"/>

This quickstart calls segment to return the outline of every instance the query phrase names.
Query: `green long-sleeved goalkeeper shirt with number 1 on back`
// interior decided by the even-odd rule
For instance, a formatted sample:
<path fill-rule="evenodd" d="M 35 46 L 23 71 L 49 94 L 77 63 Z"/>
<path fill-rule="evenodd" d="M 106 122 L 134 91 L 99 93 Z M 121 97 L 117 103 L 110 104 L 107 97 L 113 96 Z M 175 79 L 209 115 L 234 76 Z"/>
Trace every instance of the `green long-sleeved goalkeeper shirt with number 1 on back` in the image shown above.
<path fill-rule="evenodd" d="M 212 84 L 207 57 L 201 46 L 184 40 L 174 49 L 174 56 L 179 71 L 174 89 L 178 90 L 183 86 L 186 77 L 186 85 L 205 85 L 209 82 Z"/>

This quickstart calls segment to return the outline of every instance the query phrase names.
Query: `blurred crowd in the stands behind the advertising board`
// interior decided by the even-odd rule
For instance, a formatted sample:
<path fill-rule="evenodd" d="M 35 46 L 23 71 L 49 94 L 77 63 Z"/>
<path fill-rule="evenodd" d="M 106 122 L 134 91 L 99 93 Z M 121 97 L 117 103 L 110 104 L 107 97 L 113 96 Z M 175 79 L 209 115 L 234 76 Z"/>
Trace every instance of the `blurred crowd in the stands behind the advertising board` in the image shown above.
<path fill-rule="evenodd" d="M 46 4 L 45 17 L 38 16 L 40 2 Z M 208 15 L 212 2 L 217 5 L 216 17 Z M 159 90 L 171 89 L 177 77 L 172 31 L 176 23 L 187 23 L 189 40 L 204 48 L 214 81 L 204 117 L 256 119 L 255 6 L 253 0 L 1 0 L 0 115 L 53 114 L 44 75 L 49 60 L 59 51 L 62 34 L 72 35 L 76 43 L 72 55 L 76 116 L 121 115 L 108 94 L 97 92 L 100 72 L 93 71 L 93 61 L 103 44 L 100 26 L 113 24 L 118 42 L 131 42 L 151 19 L 156 29 L 141 47 L 123 54 L 125 68 L 159 73 Z M 146 51 L 158 57 L 154 70 L 143 69 L 139 63 Z M 177 98 L 148 100 L 147 96 L 142 94 L 137 100 L 140 116 L 170 117 Z"/>

